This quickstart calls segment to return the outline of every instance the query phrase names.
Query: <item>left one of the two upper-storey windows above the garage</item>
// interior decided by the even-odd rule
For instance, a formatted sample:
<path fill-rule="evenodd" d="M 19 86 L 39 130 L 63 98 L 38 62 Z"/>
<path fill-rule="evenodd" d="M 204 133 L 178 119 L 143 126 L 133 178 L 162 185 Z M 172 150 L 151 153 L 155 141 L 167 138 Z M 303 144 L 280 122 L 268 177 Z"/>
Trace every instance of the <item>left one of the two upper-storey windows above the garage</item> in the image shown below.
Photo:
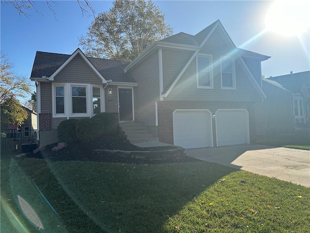
<path fill-rule="evenodd" d="M 196 57 L 197 88 L 213 88 L 212 55 L 199 54 Z"/>

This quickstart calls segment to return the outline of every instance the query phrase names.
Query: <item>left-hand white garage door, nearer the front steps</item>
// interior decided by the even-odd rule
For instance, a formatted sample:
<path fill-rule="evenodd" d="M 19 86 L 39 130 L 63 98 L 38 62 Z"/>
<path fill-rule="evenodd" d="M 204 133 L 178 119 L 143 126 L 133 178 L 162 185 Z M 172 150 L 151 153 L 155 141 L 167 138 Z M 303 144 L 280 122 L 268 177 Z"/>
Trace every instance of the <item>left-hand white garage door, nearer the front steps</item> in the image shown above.
<path fill-rule="evenodd" d="M 174 145 L 183 148 L 212 147 L 211 113 L 208 110 L 175 110 Z"/>

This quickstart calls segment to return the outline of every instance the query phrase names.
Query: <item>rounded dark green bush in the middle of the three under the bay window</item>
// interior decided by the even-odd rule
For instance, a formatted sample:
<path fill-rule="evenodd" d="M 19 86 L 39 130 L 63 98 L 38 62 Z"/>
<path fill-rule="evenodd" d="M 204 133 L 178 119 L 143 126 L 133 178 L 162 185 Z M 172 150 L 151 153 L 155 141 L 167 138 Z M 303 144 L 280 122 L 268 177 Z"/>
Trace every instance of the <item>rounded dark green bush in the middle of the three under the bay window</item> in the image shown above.
<path fill-rule="evenodd" d="M 77 121 L 76 134 L 78 140 L 90 142 L 103 134 L 103 127 L 98 118 L 82 118 Z"/>

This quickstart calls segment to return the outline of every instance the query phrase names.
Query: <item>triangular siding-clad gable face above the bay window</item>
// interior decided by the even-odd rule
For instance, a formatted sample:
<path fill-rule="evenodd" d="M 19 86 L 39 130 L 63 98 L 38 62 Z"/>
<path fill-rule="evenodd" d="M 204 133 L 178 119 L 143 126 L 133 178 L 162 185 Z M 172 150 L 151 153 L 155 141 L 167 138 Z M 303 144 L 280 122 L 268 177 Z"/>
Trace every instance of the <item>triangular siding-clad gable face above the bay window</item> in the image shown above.
<path fill-rule="evenodd" d="M 79 54 L 55 76 L 54 82 L 102 84 L 102 80 Z"/>

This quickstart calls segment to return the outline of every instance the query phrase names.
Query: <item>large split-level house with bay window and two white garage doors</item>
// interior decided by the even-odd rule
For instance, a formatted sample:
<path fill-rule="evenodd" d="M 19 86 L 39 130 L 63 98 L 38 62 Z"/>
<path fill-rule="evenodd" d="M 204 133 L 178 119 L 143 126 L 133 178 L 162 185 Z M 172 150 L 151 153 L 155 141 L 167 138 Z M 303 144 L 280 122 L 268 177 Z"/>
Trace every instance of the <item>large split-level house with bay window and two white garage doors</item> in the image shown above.
<path fill-rule="evenodd" d="M 219 20 L 196 35 L 157 41 L 133 62 L 37 52 L 41 145 L 56 142 L 62 120 L 111 112 L 120 123 L 140 122 L 159 141 L 184 148 L 255 140 L 261 62 L 270 58 L 235 47 Z M 100 109 L 98 110 L 98 103 Z M 158 139 L 157 139 L 158 140 Z"/>

